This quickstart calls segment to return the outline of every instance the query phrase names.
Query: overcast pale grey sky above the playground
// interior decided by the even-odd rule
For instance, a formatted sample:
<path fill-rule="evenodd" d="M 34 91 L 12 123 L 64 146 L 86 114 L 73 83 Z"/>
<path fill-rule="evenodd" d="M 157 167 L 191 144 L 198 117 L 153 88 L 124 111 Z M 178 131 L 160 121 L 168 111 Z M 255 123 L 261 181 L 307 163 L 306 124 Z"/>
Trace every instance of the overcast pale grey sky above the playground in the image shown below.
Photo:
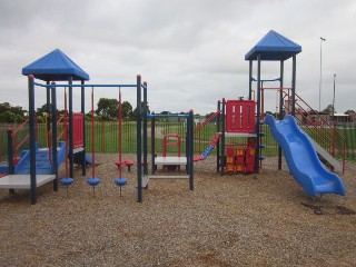
<path fill-rule="evenodd" d="M 22 68 L 59 48 L 90 75 L 89 83 L 135 83 L 140 73 L 150 110 L 205 115 L 218 99 L 247 97 L 245 55 L 275 30 L 301 46 L 296 90 L 315 109 L 325 38 L 322 108 L 333 101 L 336 73 L 336 111 L 356 110 L 355 26 L 354 0 L 0 0 L 0 102 L 27 109 Z M 288 60 L 286 86 L 290 69 Z M 263 63 L 261 71 L 263 79 L 277 78 L 279 63 Z M 42 106 L 43 88 L 36 96 Z M 117 98 L 118 90 L 97 89 L 95 101 L 100 97 Z M 267 97 L 275 110 L 275 93 Z M 136 91 L 123 89 L 122 100 L 135 108 Z"/>

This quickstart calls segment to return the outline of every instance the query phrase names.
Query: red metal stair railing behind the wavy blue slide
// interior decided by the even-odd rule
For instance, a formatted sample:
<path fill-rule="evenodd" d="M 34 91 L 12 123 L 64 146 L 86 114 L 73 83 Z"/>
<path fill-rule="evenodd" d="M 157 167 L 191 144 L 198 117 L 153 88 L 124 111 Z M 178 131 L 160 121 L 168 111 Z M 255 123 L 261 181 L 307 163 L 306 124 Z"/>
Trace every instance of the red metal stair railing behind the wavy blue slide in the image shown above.
<path fill-rule="evenodd" d="M 285 100 L 287 98 L 287 102 L 288 105 L 285 106 L 285 101 L 284 101 L 284 107 L 285 109 L 288 111 L 288 113 L 290 112 L 289 108 L 290 108 L 290 93 L 283 91 L 283 99 Z M 296 101 L 296 105 L 298 107 L 298 109 L 295 109 L 295 111 L 300 115 L 306 121 L 307 123 L 296 117 L 296 119 L 300 122 L 300 125 L 305 126 L 308 130 L 310 130 L 310 132 L 313 132 L 315 136 L 318 137 L 318 142 L 322 142 L 324 145 L 324 147 L 326 147 L 326 149 L 333 155 L 333 157 L 335 157 L 336 150 L 342 152 L 342 157 L 343 157 L 343 174 L 345 172 L 345 154 L 346 154 L 346 149 L 345 149 L 345 137 L 337 131 L 337 129 L 335 128 L 334 125 L 329 123 L 328 121 L 326 121 L 318 111 L 316 111 L 315 109 L 313 109 L 304 99 L 301 99 L 297 93 L 295 93 L 296 98 L 298 99 L 298 101 Z M 304 103 L 308 110 L 306 110 L 304 107 L 301 107 L 301 103 Z M 315 115 L 317 117 L 317 119 L 319 120 L 319 122 L 317 125 L 315 125 L 315 121 L 310 121 L 308 120 L 308 115 L 312 115 L 310 112 L 313 112 L 313 115 Z M 306 116 L 307 115 L 307 116 Z M 315 117 L 314 117 L 315 118 Z M 329 131 L 329 129 L 332 130 L 332 132 Z M 338 146 L 336 139 L 339 138 L 339 140 L 342 140 L 342 145 Z"/>

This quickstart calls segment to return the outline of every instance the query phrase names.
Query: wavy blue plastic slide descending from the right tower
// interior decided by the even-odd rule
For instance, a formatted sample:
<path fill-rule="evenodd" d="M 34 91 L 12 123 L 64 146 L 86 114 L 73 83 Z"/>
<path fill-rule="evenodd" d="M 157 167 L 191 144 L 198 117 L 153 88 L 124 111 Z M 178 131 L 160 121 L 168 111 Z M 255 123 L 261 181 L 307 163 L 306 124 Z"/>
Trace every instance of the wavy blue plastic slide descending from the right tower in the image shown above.
<path fill-rule="evenodd" d="M 286 115 L 284 120 L 276 121 L 268 115 L 265 123 L 270 127 L 271 135 L 281 147 L 290 174 L 304 187 L 306 194 L 345 196 L 342 178 L 324 167 L 309 137 L 299 128 L 293 116 Z"/>

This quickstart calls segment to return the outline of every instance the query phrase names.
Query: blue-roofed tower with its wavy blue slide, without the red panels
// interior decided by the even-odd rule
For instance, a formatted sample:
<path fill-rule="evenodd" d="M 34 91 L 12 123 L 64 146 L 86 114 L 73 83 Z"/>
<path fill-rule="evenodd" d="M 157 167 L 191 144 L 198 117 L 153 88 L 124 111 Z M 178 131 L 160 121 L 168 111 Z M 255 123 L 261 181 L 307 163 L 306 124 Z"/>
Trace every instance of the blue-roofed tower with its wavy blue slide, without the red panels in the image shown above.
<path fill-rule="evenodd" d="M 295 123 L 291 117 L 296 116 L 296 55 L 301 52 L 301 47 L 289 39 L 280 36 L 275 31 L 269 31 L 246 56 L 249 61 L 249 99 L 253 95 L 253 81 L 257 80 L 257 113 L 256 113 L 256 171 L 259 172 L 258 160 L 260 155 L 261 137 L 260 126 L 265 123 L 264 115 L 264 90 L 261 79 L 261 61 L 279 61 L 280 77 L 279 88 L 279 121 L 275 122 L 271 116 L 267 116 L 266 123 L 271 127 L 271 132 L 276 141 L 279 144 L 278 149 L 278 169 L 281 169 L 281 149 L 287 159 L 289 171 L 295 180 L 304 187 L 305 191 L 312 196 L 318 194 L 337 194 L 345 195 L 345 188 L 342 179 L 328 171 L 316 156 L 315 148 L 310 145 L 306 134 L 300 131 L 300 128 Z M 284 88 L 284 62 L 291 58 L 291 87 Z M 257 79 L 253 78 L 253 61 L 257 61 Z M 284 101 L 287 96 L 287 101 Z M 287 107 L 285 106 L 287 103 Z M 285 110 L 283 109 L 285 107 Z M 284 112 L 290 113 L 291 117 L 284 119 Z M 283 127 L 285 125 L 285 127 Z M 300 134 L 301 132 L 301 134 Z M 322 155 L 323 156 L 323 155 Z M 309 158 L 313 165 L 310 168 L 305 168 L 304 158 Z"/>

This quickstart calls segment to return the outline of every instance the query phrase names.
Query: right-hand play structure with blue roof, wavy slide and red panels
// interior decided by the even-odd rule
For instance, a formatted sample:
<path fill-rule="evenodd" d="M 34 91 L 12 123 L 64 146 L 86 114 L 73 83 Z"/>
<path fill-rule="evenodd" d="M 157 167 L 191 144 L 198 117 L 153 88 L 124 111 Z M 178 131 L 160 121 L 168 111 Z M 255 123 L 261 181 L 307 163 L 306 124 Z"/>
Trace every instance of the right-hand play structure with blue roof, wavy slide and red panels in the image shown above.
<path fill-rule="evenodd" d="M 318 194 L 337 194 L 345 195 L 345 188 L 342 179 L 327 170 L 320 162 L 319 158 L 316 156 L 317 152 L 319 157 L 327 160 L 333 168 L 344 172 L 345 166 L 345 145 L 337 146 L 335 136 L 339 139 L 344 138 L 336 131 L 334 127 L 328 125 L 322 118 L 322 125 L 326 125 L 332 130 L 326 130 L 320 134 L 318 128 L 310 127 L 312 123 L 307 123 L 307 129 L 315 130 L 320 136 L 322 141 L 325 139 L 328 144 L 332 144 L 332 155 L 326 151 L 316 141 L 313 141 L 314 146 L 309 144 L 309 137 L 307 141 L 304 136 L 306 134 L 300 134 L 300 128 L 291 120 L 286 117 L 285 113 L 290 113 L 293 117 L 296 113 L 303 119 L 306 110 L 300 106 L 300 103 L 306 102 L 296 95 L 296 55 L 301 51 L 301 47 L 289 39 L 280 36 L 275 31 L 269 31 L 246 56 L 245 59 L 249 61 L 249 93 L 248 100 L 225 100 L 218 101 L 218 113 L 217 117 L 217 132 L 221 135 L 220 144 L 218 141 L 217 146 L 217 170 L 220 169 L 221 176 L 226 172 L 231 174 L 248 174 L 255 172 L 259 174 L 259 168 L 261 167 L 261 160 L 265 158 L 261 155 L 261 150 L 265 147 L 263 144 L 263 137 L 265 132 L 261 131 L 261 126 L 266 123 L 270 126 L 271 132 L 276 141 L 279 144 L 278 148 L 278 169 L 281 169 L 281 149 L 287 159 L 287 164 L 290 174 L 295 180 L 304 187 L 305 191 L 312 196 Z M 293 70 L 291 70 L 291 87 L 284 87 L 284 62 L 291 58 L 293 59 Z M 257 61 L 257 79 L 253 78 L 253 61 Z M 261 61 L 279 61 L 280 63 L 280 77 L 277 79 L 261 79 L 260 66 Z M 256 91 L 253 90 L 253 82 L 256 82 Z M 264 87 L 264 82 L 278 81 L 279 87 L 268 88 Z M 278 115 L 279 121 L 275 122 L 271 116 L 265 116 L 265 91 L 275 90 L 277 92 L 276 102 L 276 117 Z M 253 100 L 253 92 L 257 92 L 256 102 Z M 278 101 L 279 99 L 279 101 Z M 298 102 L 297 102 L 298 100 Z M 221 107 L 220 107 L 221 105 Z M 256 111 L 255 111 L 256 106 Z M 279 109 L 278 109 L 279 106 Z M 296 110 L 297 106 L 297 110 Z M 307 106 L 307 105 L 306 105 Z M 307 106 L 310 108 L 309 106 Z M 313 109 L 312 109 L 313 110 Z M 316 112 L 317 113 L 317 112 Z M 220 118 L 221 116 L 221 118 Z M 296 117 L 297 118 L 297 117 Z M 221 120 L 221 123 L 219 122 Z M 299 119 L 300 120 L 300 119 Z M 288 121 L 289 127 L 281 127 Z M 290 122 L 290 121 L 294 121 Z M 219 128 L 221 125 L 221 129 Z M 332 132 L 332 135 L 329 134 Z M 285 141 L 288 140 L 286 137 L 288 135 L 289 139 L 295 139 L 298 141 Z M 243 142 L 229 144 L 228 138 L 240 138 Z M 296 148 L 297 147 L 297 148 Z M 317 152 L 316 152 L 317 149 Z M 343 167 L 339 162 L 334 159 L 336 152 L 335 150 L 342 151 L 343 155 Z M 307 155 L 305 155 L 307 154 Z M 313 168 L 305 168 L 301 164 L 303 158 L 309 158 L 313 162 Z"/>

